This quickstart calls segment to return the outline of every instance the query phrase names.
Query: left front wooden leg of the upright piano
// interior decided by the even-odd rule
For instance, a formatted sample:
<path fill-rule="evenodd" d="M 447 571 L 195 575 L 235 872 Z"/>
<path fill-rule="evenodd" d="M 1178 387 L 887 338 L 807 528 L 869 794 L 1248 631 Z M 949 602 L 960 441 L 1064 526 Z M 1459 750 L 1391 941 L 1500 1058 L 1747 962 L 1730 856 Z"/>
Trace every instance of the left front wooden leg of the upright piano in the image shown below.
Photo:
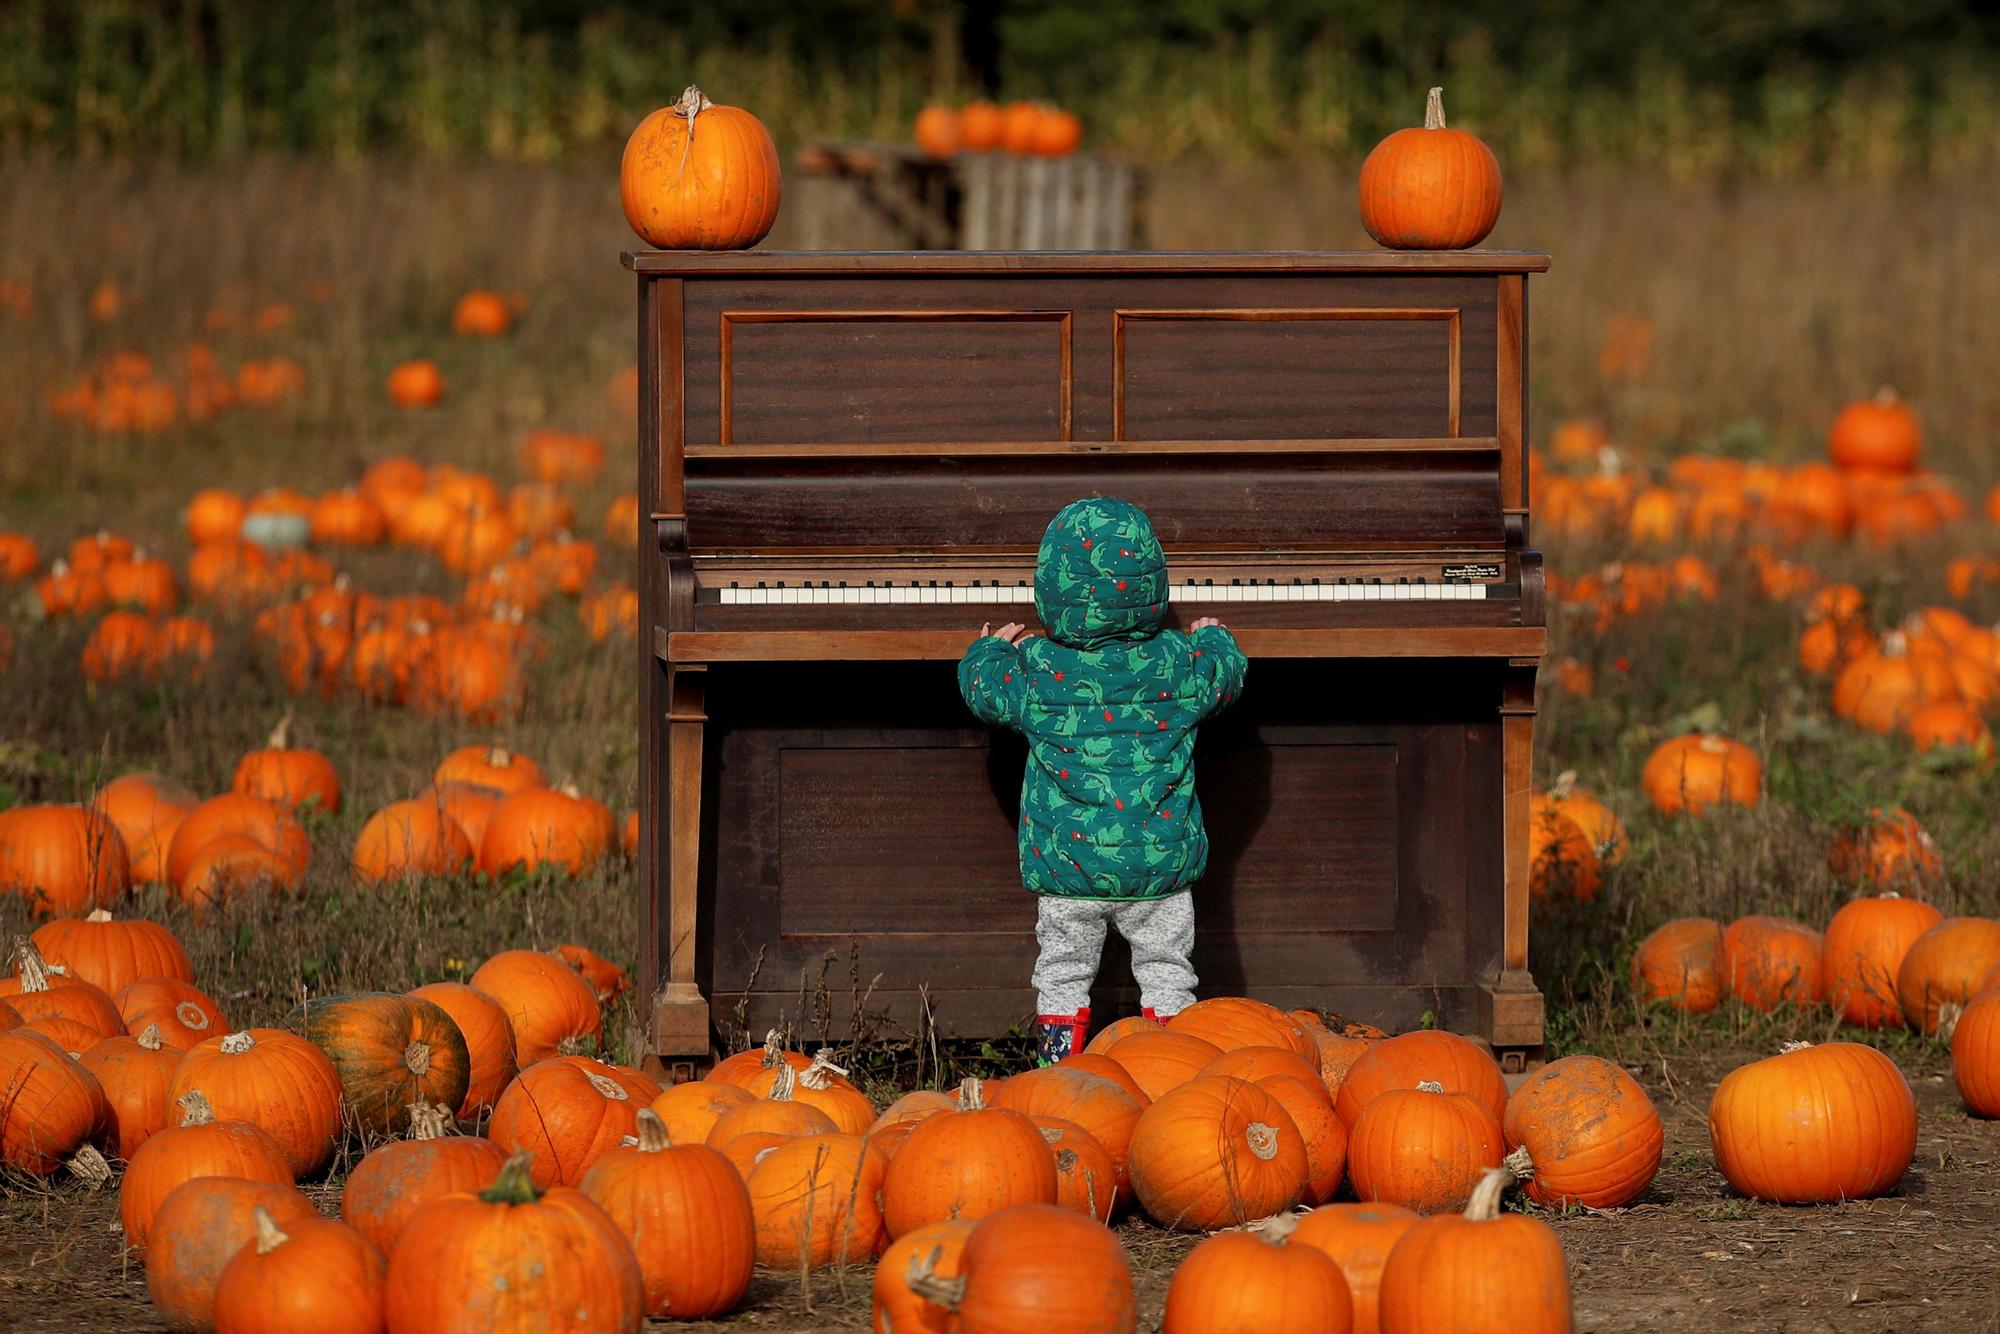
<path fill-rule="evenodd" d="M 664 848 L 656 858 L 666 884 L 654 886 L 654 912 L 666 900 L 664 986 L 652 1000 L 652 1050 L 656 1074 L 672 1082 L 706 1074 L 712 1064 L 708 998 L 694 976 L 694 940 L 700 920 L 696 882 L 702 850 L 702 730 L 706 676 L 702 668 L 666 668 L 666 724 L 660 772 L 664 776 Z M 660 810 L 660 806 L 654 806 Z"/>

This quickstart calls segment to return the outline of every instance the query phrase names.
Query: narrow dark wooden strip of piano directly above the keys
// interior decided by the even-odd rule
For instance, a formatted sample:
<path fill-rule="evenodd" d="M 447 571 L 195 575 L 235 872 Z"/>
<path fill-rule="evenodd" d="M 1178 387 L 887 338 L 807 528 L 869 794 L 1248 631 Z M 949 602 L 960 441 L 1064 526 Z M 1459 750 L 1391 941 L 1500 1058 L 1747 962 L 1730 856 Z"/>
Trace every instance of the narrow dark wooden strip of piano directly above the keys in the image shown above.
<path fill-rule="evenodd" d="M 1498 454 L 1022 452 L 688 460 L 688 534 L 704 550 L 1034 550 L 1078 496 L 1146 508 L 1168 548 L 1396 550 L 1504 546 Z M 862 482 L 866 478 L 866 482 Z"/>

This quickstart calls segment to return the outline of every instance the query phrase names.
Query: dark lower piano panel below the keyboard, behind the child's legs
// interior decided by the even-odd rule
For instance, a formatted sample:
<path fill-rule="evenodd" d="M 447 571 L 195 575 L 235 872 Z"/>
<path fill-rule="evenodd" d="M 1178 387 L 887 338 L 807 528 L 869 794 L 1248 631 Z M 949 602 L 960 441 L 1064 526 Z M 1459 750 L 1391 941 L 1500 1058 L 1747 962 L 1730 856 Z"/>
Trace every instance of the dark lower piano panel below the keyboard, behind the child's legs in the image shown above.
<path fill-rule="evenodd" d="M 762 1032 L 826 988 L 838 1032 L 858 978 L 870 1012 L 914 1022 L 928 998 L 948 1034 L 1032 1014 L 1020 738 L 966 726 L 950 676 L 924 664 L 710 678 L 700 952 L 716 1012 Z M 1498 784 L 1496 708 L 1496 680 L 1464 664 L 1252 664 L 1196 766 L 1204 990 L 1468 1020 L 1498 950 L 1500 812 L 1472 798 Z M 1100 978 L 1098 1004 L 1134 1002 L 1120 950 Z"/>

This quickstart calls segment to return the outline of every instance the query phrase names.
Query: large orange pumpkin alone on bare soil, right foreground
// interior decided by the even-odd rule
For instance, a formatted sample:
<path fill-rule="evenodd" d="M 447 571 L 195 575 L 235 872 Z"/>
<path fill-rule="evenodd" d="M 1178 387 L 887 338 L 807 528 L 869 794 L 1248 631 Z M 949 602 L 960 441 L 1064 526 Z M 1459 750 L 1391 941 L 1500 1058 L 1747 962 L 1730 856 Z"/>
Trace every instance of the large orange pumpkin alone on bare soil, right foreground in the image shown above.
<path fill-rule="evenodd" d="M 1872 1046 L 1792 1042 L 1722 1076 L 1708 1140 L 1722 1176 L 1746 1196 L 1862 1200 L 1892 1190 L 1916 1156 L 1916 1098 Z"/>

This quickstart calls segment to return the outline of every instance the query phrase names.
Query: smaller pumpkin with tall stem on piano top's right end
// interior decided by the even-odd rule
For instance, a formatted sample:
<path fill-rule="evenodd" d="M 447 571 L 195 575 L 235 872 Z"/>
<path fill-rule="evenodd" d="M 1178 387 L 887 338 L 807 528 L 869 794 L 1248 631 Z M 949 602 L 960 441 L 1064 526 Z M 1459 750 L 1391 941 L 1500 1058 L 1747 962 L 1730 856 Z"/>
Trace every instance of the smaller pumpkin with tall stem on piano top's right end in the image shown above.
<path fill-rule="evenodd" d="M 1500 162 L 1492 148 L 1444 124 L 1444 88 L 1432 88 L 1422 130 L 1396 130 L 1362 162 L 1362 226 L 1390 250 L 1462 250 L 1500 220 Z"/>

